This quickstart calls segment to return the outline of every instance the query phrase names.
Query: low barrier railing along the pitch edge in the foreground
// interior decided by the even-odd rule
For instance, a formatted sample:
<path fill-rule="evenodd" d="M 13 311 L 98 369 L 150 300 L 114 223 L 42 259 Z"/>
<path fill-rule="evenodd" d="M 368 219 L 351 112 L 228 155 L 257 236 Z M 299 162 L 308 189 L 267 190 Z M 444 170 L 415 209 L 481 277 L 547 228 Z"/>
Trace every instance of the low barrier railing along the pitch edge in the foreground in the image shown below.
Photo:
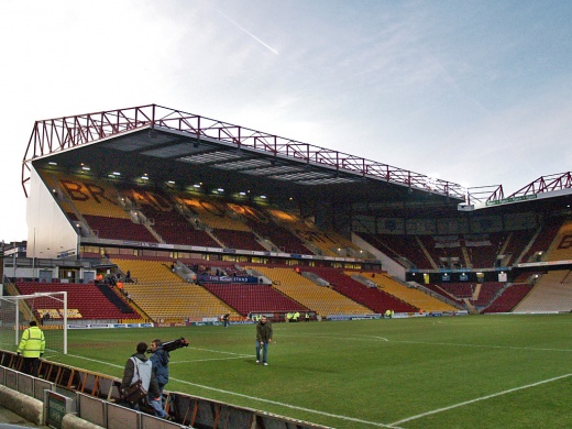
<path fill-rule="evenodd" d="M 0 350 L 0 384 L 40 400 L 43 400 L 44 389 L 66 389 L 79 418 L 106 428 L 179 428 L 185 425 L 204 429 L 327 429 L 262 410 L 164 392 L 165 410 L 172 422 L 123 407 L 121 380 L 117 377 L 41 360 L 36 378 L 20 373 L 21 363 L 22 359 L 15 353 Z"/>

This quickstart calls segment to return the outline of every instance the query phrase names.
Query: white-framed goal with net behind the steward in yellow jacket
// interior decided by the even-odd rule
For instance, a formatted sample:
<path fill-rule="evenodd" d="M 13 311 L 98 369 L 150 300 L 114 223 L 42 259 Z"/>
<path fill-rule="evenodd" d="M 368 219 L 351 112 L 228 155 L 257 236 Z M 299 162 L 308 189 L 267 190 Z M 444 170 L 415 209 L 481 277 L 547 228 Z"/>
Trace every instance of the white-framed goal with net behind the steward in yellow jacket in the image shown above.
<path fill-rule="evenodd" d="M 67 354 L 67 292 L 0 296 L 0 349 L 15 352 L 31 320 L 44 331 L 44 358 Z"/>

